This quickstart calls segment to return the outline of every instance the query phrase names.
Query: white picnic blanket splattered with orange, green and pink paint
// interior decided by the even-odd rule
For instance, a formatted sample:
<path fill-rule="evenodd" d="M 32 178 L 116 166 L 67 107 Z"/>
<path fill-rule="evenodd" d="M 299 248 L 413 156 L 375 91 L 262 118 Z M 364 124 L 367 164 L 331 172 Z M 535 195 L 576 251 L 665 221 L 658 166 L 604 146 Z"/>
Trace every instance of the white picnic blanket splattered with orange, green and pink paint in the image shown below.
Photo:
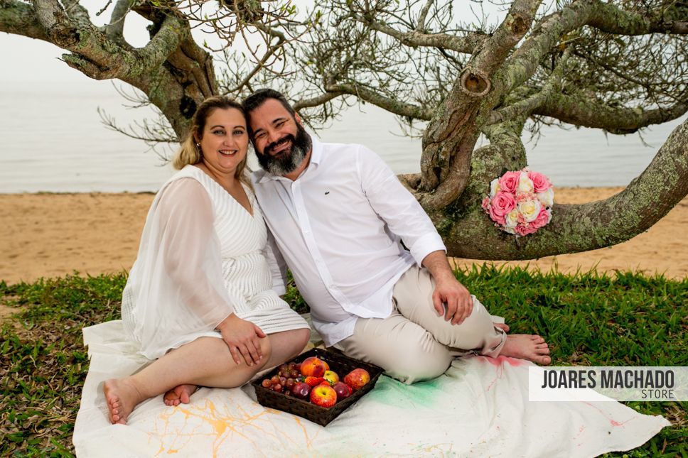
<path fill-rule="evenodd" d="M 124 341 L 119 321 L 83 331 L 91 364 L 72 437 L 80 457 L 591 457 L 638 447 L 670 425 L 616 402 L 529 402 L 530 363 L 482 356 L 412 386 L 381 376 L 327 427 L 263 408 L 249 385 L 203 388 L 178 407 L 158 396 L 127 425 L 110 425 L 100 383 L 148 361 Z"/>

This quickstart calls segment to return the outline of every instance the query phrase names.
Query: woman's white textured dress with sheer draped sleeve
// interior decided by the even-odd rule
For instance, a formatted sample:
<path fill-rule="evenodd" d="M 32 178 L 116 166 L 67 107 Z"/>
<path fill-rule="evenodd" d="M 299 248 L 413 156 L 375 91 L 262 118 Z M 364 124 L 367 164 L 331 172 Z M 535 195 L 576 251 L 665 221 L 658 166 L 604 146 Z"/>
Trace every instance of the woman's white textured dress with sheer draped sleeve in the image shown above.
<path fill-rule="evenodd" d="M 308 328 L 272 290 L 268 232 L 203 170 L 187 165 L 158 191 L 122 294 L 122 322 L 139 354 L 156 359 L 235 312 L 266 334 Z"/>

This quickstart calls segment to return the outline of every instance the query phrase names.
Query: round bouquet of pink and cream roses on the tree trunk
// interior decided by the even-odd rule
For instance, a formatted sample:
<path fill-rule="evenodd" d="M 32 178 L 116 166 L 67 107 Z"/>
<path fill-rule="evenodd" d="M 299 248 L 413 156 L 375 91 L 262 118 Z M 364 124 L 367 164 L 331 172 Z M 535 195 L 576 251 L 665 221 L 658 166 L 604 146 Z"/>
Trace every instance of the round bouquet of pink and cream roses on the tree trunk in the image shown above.
<path fill-rule="evenodd" d="M 495 226 L 509 234 L 532 234 L 552 220 L 554 189 L 549 178 L 527 168 L 507 172 L 490 182 L 483 209 Z"/>

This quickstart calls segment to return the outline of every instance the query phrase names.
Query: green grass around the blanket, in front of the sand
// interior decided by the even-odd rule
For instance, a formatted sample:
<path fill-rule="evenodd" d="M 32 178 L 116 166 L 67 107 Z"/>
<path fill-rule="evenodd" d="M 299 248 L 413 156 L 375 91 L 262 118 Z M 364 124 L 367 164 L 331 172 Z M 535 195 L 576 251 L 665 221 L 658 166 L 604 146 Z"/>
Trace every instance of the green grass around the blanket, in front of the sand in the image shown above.
<path fill-rule="evenodd" d="M 522 268 L 458 271 L 512 332 L 546 337 L 555 365 L 688 366 L 688 279 L 635 273 L 564 275 Z M 16 310 L 0 332 L 0 456 L 71 456 L 88 361 L 81 328 L 119 318 L 124 274 L 0 281 Z M 290 288 L 286 299 L 307 311 Z M 643 447 L 610 456 L 688 457 L 688 403 L 627 403 L 672 422 Z"/>

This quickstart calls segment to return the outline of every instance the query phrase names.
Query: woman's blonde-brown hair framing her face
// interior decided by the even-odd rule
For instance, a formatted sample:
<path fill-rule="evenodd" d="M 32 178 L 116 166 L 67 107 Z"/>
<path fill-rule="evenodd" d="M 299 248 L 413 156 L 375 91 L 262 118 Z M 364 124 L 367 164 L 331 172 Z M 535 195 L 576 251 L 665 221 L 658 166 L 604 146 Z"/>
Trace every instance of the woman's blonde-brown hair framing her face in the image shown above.
<path fill-rule="evenodd" d="M 244 109 L 242 108 L 241 104 L 239 102 L 236 102 L 234 99 L 230 99 L 230 97 L 227 97 L 225 95 L 214 95 L 213 97 L 208 97 L 208 99 L 205 99 L 203 103 L 201 103 L 198 106 L 198 109 L 196 109 L 196 112 L 193 114 L 193 117 L 191 118 L 191 126 L 189 128 L 189 131 L 186 134 L 184 140 L 182 141 L 181 147 L 172 159 L 172 166 L 176 168 L 176 170 L 181 170 L 189 164 L 198 164 L 201 160 L 203 160 L 203 152 L 200 151 L 200 146 L 197 146 L 195 138 L 198 137 L 199 140 L 203 138 L 205 122 L 208 121 L 208 117 L 211 114 L 213 114 L 213 111 L 215 111 L 218 108 L 237 109 L 241 111 L 241 113 L 244 115 L 244 120 L 246 120 L 246 114 L 244 113 Z M 245 170 L 246 158 L 244 158 L 244 160 L 242 160 L 239 163 L 234 176 L 235 178 L 238 178 L 245 184 L 250 185 L 251 182 L 247 177 Z"/>

